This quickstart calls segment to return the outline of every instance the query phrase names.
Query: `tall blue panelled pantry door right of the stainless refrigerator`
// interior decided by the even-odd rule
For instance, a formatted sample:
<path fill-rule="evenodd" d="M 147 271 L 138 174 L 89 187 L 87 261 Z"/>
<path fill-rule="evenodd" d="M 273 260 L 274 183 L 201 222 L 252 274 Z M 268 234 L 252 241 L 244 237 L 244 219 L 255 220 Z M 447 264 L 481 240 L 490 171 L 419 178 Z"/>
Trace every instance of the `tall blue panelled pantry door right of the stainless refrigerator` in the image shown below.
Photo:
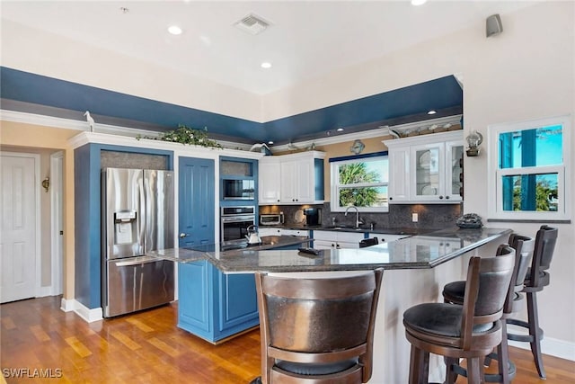
<path fill-rule="evenodd" d="M 215 225 L 214 160 L 180 157 L 180 246 L 213 244 Z"/>

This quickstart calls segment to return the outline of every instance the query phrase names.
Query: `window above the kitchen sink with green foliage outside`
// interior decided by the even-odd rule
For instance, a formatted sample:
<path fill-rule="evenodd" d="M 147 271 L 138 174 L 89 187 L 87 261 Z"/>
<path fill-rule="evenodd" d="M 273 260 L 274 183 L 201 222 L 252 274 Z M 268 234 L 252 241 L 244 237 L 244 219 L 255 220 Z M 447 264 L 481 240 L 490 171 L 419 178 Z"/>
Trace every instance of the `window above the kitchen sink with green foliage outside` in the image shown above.
<path fill-rule="evenodd" d="M 336 157 L 330 162 L 332 211 L 341 212 L 355 205 L 361 211 L 387 212 L 387 152 Z"/>

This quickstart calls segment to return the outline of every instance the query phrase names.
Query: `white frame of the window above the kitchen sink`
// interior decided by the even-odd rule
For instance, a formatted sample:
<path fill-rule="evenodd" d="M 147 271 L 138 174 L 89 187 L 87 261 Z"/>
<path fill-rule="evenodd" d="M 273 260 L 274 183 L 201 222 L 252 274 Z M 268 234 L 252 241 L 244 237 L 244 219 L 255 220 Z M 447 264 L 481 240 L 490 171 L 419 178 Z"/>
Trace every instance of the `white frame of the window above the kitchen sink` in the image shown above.
<path fill-rule="evenodd" d="M 351 163 L 359 163 L 361 160 L 365 159 L 366 161 L 374 161 L 378 159 L 386 159 L 387 160 L 387 181 L 383 183 L 355 183 L 355 184 L 340 184 L 339 183 L 339 172 L 338 167 L 339 165 L 351 164 Z M 340 188 L 341 187 L 386 187 L 387 188 L 387 205 L 385 207 L 358 207 L 360 212 L 389 212 L 389 156 L 387 151 L 382 152 L 374 152 L 365 155 L 357 155 L 357 156 L 341 156 L 341 157 L 332 157 L 330 158 L 330 177 L 331 177 L 331 197 L 330 197 L 330 210 L 332 212 L 345 212 L 346 207 L 340 207 Z"/>

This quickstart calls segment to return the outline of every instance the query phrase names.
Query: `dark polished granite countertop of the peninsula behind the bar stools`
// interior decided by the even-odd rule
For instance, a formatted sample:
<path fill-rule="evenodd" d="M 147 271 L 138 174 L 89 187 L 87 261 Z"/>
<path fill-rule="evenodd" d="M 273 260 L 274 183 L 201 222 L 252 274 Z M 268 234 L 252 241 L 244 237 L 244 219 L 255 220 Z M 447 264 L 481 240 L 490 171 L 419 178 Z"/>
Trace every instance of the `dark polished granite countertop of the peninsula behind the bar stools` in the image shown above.
<path fill-rule="evenodd" d="M 218 245 L 194 250 L 179 248 L 156 251 L 155 255 L 180 263 L 207 259 L 222 272 L 319 272 L 384 269 L 433 268 L 499 237 L 507 228 L 446 228 L 426 235 L 359 249 L 326 249 L 320 255 L 274 247 L 302 244 L 306 237 L 262 237 L 264 244 L 232 251 L 220 251 Z M 291 241 L 292 243 L 288 242 Z M 295 243 L 293 243 L 295 242 Z"/>

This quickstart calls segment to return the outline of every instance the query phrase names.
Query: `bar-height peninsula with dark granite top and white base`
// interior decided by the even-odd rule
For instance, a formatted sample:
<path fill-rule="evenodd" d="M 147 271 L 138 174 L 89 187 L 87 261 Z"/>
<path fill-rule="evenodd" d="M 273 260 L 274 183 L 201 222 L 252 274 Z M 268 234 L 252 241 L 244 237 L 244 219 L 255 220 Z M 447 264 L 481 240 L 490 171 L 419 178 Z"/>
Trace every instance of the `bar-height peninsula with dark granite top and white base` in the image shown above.
<path fill-rule="evenodd" d="M 245 272 L 322 272 L 361 271 L 383 267 L 382 291 L 377 308 L 372 384 L 396 384 L 408 381 L 410 344 L 405 339 L 403 312 L 422 302 L 441 301 L 441 290 L 449 281 L 464 280 L 471 255 L 482 246 L 507 242 L 510 229 L 446 228 L 423 236 L 406 237 L 394 242 L 360 249 L 328 249 L 320 255 L 297 250 L 244 248 L 221 251 L 218 245 L 196 249 L 167 249 L 153 253 L 180 263 L 208 263 L 223 275 Z M 262 237 L 264 242 L 268 239 Z M 292 241 L 305 240 L 292 239 Z M 309 241 L 309 239 L 307 239 Z M 443 380 L 443 361 L 429 360 L 430 380 Z"/>

